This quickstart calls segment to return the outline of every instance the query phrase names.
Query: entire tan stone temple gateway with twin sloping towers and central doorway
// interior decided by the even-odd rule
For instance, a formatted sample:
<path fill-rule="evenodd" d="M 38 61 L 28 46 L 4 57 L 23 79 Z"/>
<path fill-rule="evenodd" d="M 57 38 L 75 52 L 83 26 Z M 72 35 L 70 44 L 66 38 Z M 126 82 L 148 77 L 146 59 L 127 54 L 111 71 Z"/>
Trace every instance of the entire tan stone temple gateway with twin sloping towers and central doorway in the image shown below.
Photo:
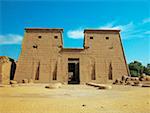
<path fill-rule="evenodd" d="M 63 48 L 63 29 L 26 28 L 14 79 L 108 83 L 129 75 L 120 30 L 84 30 L 83 48 Z"/>

